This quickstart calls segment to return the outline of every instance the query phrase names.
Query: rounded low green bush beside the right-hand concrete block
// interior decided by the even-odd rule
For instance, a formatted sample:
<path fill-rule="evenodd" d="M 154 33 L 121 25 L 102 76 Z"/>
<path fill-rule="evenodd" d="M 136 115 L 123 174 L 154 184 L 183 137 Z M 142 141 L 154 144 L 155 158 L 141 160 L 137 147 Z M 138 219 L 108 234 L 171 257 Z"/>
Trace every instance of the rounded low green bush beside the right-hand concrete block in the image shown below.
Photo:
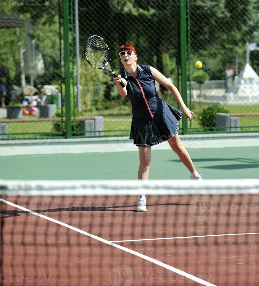
<path fill-rule="evenodd" d="M 203 108 L 198 121 L 203 127 L 215 127 L 216 126 L 216 113 L 229 113 L 227 109 L 220 105 L 212 105 L 207 108 Z M 205 131 L 213 131 L 213 129 L 206 129 Z"/>

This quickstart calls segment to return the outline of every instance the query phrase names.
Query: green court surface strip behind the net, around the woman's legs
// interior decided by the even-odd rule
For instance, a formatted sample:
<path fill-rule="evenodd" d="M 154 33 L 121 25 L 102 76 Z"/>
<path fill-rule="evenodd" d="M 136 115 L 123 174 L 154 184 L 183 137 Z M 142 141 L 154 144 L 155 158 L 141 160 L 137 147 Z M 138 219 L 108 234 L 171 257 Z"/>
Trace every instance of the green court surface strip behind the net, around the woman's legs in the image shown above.
<path fill-rule="evenodd" d="M 253 179 L 259 147 L 189 149 L 203 179 Z M 2 156 L 1 179 L 137 179 L 138 152 Z M 171 150 L 152 151 L 149 179 L 188 179 Z"/>

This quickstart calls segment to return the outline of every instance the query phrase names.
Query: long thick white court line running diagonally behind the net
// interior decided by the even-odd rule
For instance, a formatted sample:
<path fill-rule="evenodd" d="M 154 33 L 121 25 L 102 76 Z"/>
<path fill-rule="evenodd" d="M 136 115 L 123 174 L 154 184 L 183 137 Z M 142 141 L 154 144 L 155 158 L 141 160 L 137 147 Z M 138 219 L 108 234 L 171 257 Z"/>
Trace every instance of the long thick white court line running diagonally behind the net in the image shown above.
<path fill-rule="evenodd" d="M 15 205 L 14 203 L 11 203 L 11 202 L 9 202 L 9 201 L 7 201 L 7 200 L 4 200 L 4 199 L 2 199 L 2 198 L 0 198 L 0 201 L 2 201 L 3 203 L 6 203 L 6 204 L 8 204 L 8 205 L 11 205 L 11 206 L 13 206 L 13 207 L 17 207 L 17 208 L 20 209 L 20 210 L 24 210 L 24 211 L 26 211 L 26 212 L 29 212 L 29 213 L 31 213 L 31 214 L 34 214 L 34 215 L 36 215 L 36 216 L 38 216 L 38 217 L 42 217 L 42 218 L 44 218 L 44 219 L 50 220 L 51 222 L 55 222 L 56 224 L 60 224 L 60 225 L 62 225 L 62 226 L 65 226 L 65 227 L 67 227 L 68 229 L 72 229 L 72 230 L 77 231 L 77 232 L 79 232 L 79 233 L 82 233 L 82 234 L 84 234 L 84 235 L 86 235 L 86 236 L 89 236 L 89 237 L 91 237 L 91 238 L 94 238 L 94 239 L 96 239 L 96 240 L 99 240 L 99 241 L 101 241 L 101 242 L 103 242 L 103 243 L 106 243 L 106 244 L 108 244 L 108 245 L 111 245 L 111 246 L 114 246 L 114 247 L 119 248 L 119 249 L 121 249 L 121 250 L 124 250 L 124 251 L 126 251 L 126 252 L 128 252 L 128 253 L 134 254 L 134 255 L 136 255 L 136 256 L 138 256 L 138 257 L 140 257 L 140 258 L 143 258 L 143 259 L 146 259 L 147 261 L 153 262 L 154 264 L 157 264 L 157 265 L 162 266 L 162 267 L 164 267 L 164 268 L 166 268 L 166 269 L 168 269 L 168 270 L 170 270 L 170 271 L 173 271 L 173 272 L 175 272 L 175 273 L 177 273 L 177 274 L 180 274 L 180 275 L 182 275 L 182 276 L 185 276 L 186 278 L 188 278 L 188 279 L 190 279 L 190 280 L 193 280 L 193 281 L 195 281 L 195 282 L 198 282 L 198 283 L 200 283 L 200 284 L 202 284 L 202 285 L 216 286 L 216 285 L 214 285 L 214 284 L 212 284 L 212 283 L 209 283 L 209 282 L 207 282 L 207 281 L 205 281 L 205 280 L 202 280 L 202 279 L 200 279 L 200 278 L 198 278 L 198 277 L 196 277 L 196 276 L 194 276 L 194 275 L 191 275 L 191 274 L 189 274 L 189 273 L 187 273 L 187 272 L 184 272 L 184 271 L 182 271 L 182 270 L 180 270 L 180 269 L 177 269 L 177 268 L 175 268 L 175 267 L 173 267 L 173 266 L 170 266 L 170 265 L 165 264 L 165 263 L 163 263 L 163 262 L 161 262 L 161 261 L 158 261 L 158 260 L 156 260 L 156 259 L 154 259 L 154 258 L 152 258 L 152 257 L 149 257 L 149 256 L 147 256 L 147 255 L 141 254 L 141 253 L 139 253 L 139 252 L 136 252 L 136 251 L 131 250 L 131 249 L 129 249 L 129 248 L 126 248 L 126 247 L 124 247 L 124 246 L 121 246 L 121 245 L 112 243 L 112 242 L 110 242 L 110 241 L 108 241 L 108 240 L 106 240 L 106 239 L 103 239 L 103 238 L 99 237 L 99 236 L 95 236 L 95 235 L 93 235 L 93 234 L 91 234 L 91 233 L 88 233 L 88 232 L 86 232 L 86 231 L 82 231 L 81 229 L 77 229 L 77 228 L 74 227 L 74 226 L 71 226 L 71 225 L 69 225 L 69 224 L 65 224 L 64 222 L 60 222 L 60 221 L 58 221 L 58 220 L 56 220 L 56 219 L 52 219 L 51 217 L 47 217 L 47 216 L 45 216 L 45 215 L 43 215 L 43 214 L 39 214 L 39 213 L 37 213 L 37 212 L 34 212 L 33 210 L 29 210 L 29 209 L 27 209 L 27 208 L 25 208 L 25 207 L 22 207 L 22 206 L 20 206 L 20 205 Z"/>

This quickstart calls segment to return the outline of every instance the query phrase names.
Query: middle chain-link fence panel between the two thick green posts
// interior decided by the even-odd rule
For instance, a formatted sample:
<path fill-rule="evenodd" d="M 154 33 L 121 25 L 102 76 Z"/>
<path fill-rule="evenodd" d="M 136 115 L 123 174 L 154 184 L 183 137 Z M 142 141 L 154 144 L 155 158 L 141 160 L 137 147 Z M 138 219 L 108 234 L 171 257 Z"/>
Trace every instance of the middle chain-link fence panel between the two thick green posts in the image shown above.
<path fill-rule="evenodd" d="M 92 68 L 82 58 L 84 42 L 91 35 L 103 37 L 118 74 L 123 72 L 118 49 L 125 43 L 132 44 L 137 50 L 138 63 L 150 64 L 177 84 L 177 3 L 150 1 L 147 5 L 141 1 L 108 0 L 87 3 L 78 2 L 81 108 L 89 116 L 103 116 L 103 135 L 128 135 L 131 104 L 127 97 L 119 95 L 110 74 Z M 75 8 L 75 3 L 70 4 Z M 73 35 L 76 36 L 75 30 Z M 177 105 L 168 90 L 159 85 L 157 90 L 165 101 Z"/>

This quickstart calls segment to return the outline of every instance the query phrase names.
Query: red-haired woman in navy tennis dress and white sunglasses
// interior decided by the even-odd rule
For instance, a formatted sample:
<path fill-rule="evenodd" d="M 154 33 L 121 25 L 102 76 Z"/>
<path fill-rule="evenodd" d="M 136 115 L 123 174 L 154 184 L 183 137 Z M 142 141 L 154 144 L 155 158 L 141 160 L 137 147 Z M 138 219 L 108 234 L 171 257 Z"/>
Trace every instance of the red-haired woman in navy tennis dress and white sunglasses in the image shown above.
<path fill-rule="evenodd" d="M 124 65 L 124 74 L 113 80 L 119 94 L 122 97 L 127 96 L 132 104 L 130 139 L 134 140 L 139 150 L 138 179 L 148 179 L 151 146 L 167 140 L 172 150 L 191 172 L 191 179 L 202 180 L 177 133 L 182 114 L 191 121 L 194 113 L 186 107 L 177 88 L 163 74 L 149 65 L 137 64 L 138 56 L 132 45 L 121 46 L 119 56 Z M 121 81 L 125 83 L 125 87 L 121 87 L 119 84 Z M 182 112 L 163 102 L 156 91 L 155 81 L 172 93 Z M 137 211 L 146 212 L 145 196 L 138 198 Z"/>

